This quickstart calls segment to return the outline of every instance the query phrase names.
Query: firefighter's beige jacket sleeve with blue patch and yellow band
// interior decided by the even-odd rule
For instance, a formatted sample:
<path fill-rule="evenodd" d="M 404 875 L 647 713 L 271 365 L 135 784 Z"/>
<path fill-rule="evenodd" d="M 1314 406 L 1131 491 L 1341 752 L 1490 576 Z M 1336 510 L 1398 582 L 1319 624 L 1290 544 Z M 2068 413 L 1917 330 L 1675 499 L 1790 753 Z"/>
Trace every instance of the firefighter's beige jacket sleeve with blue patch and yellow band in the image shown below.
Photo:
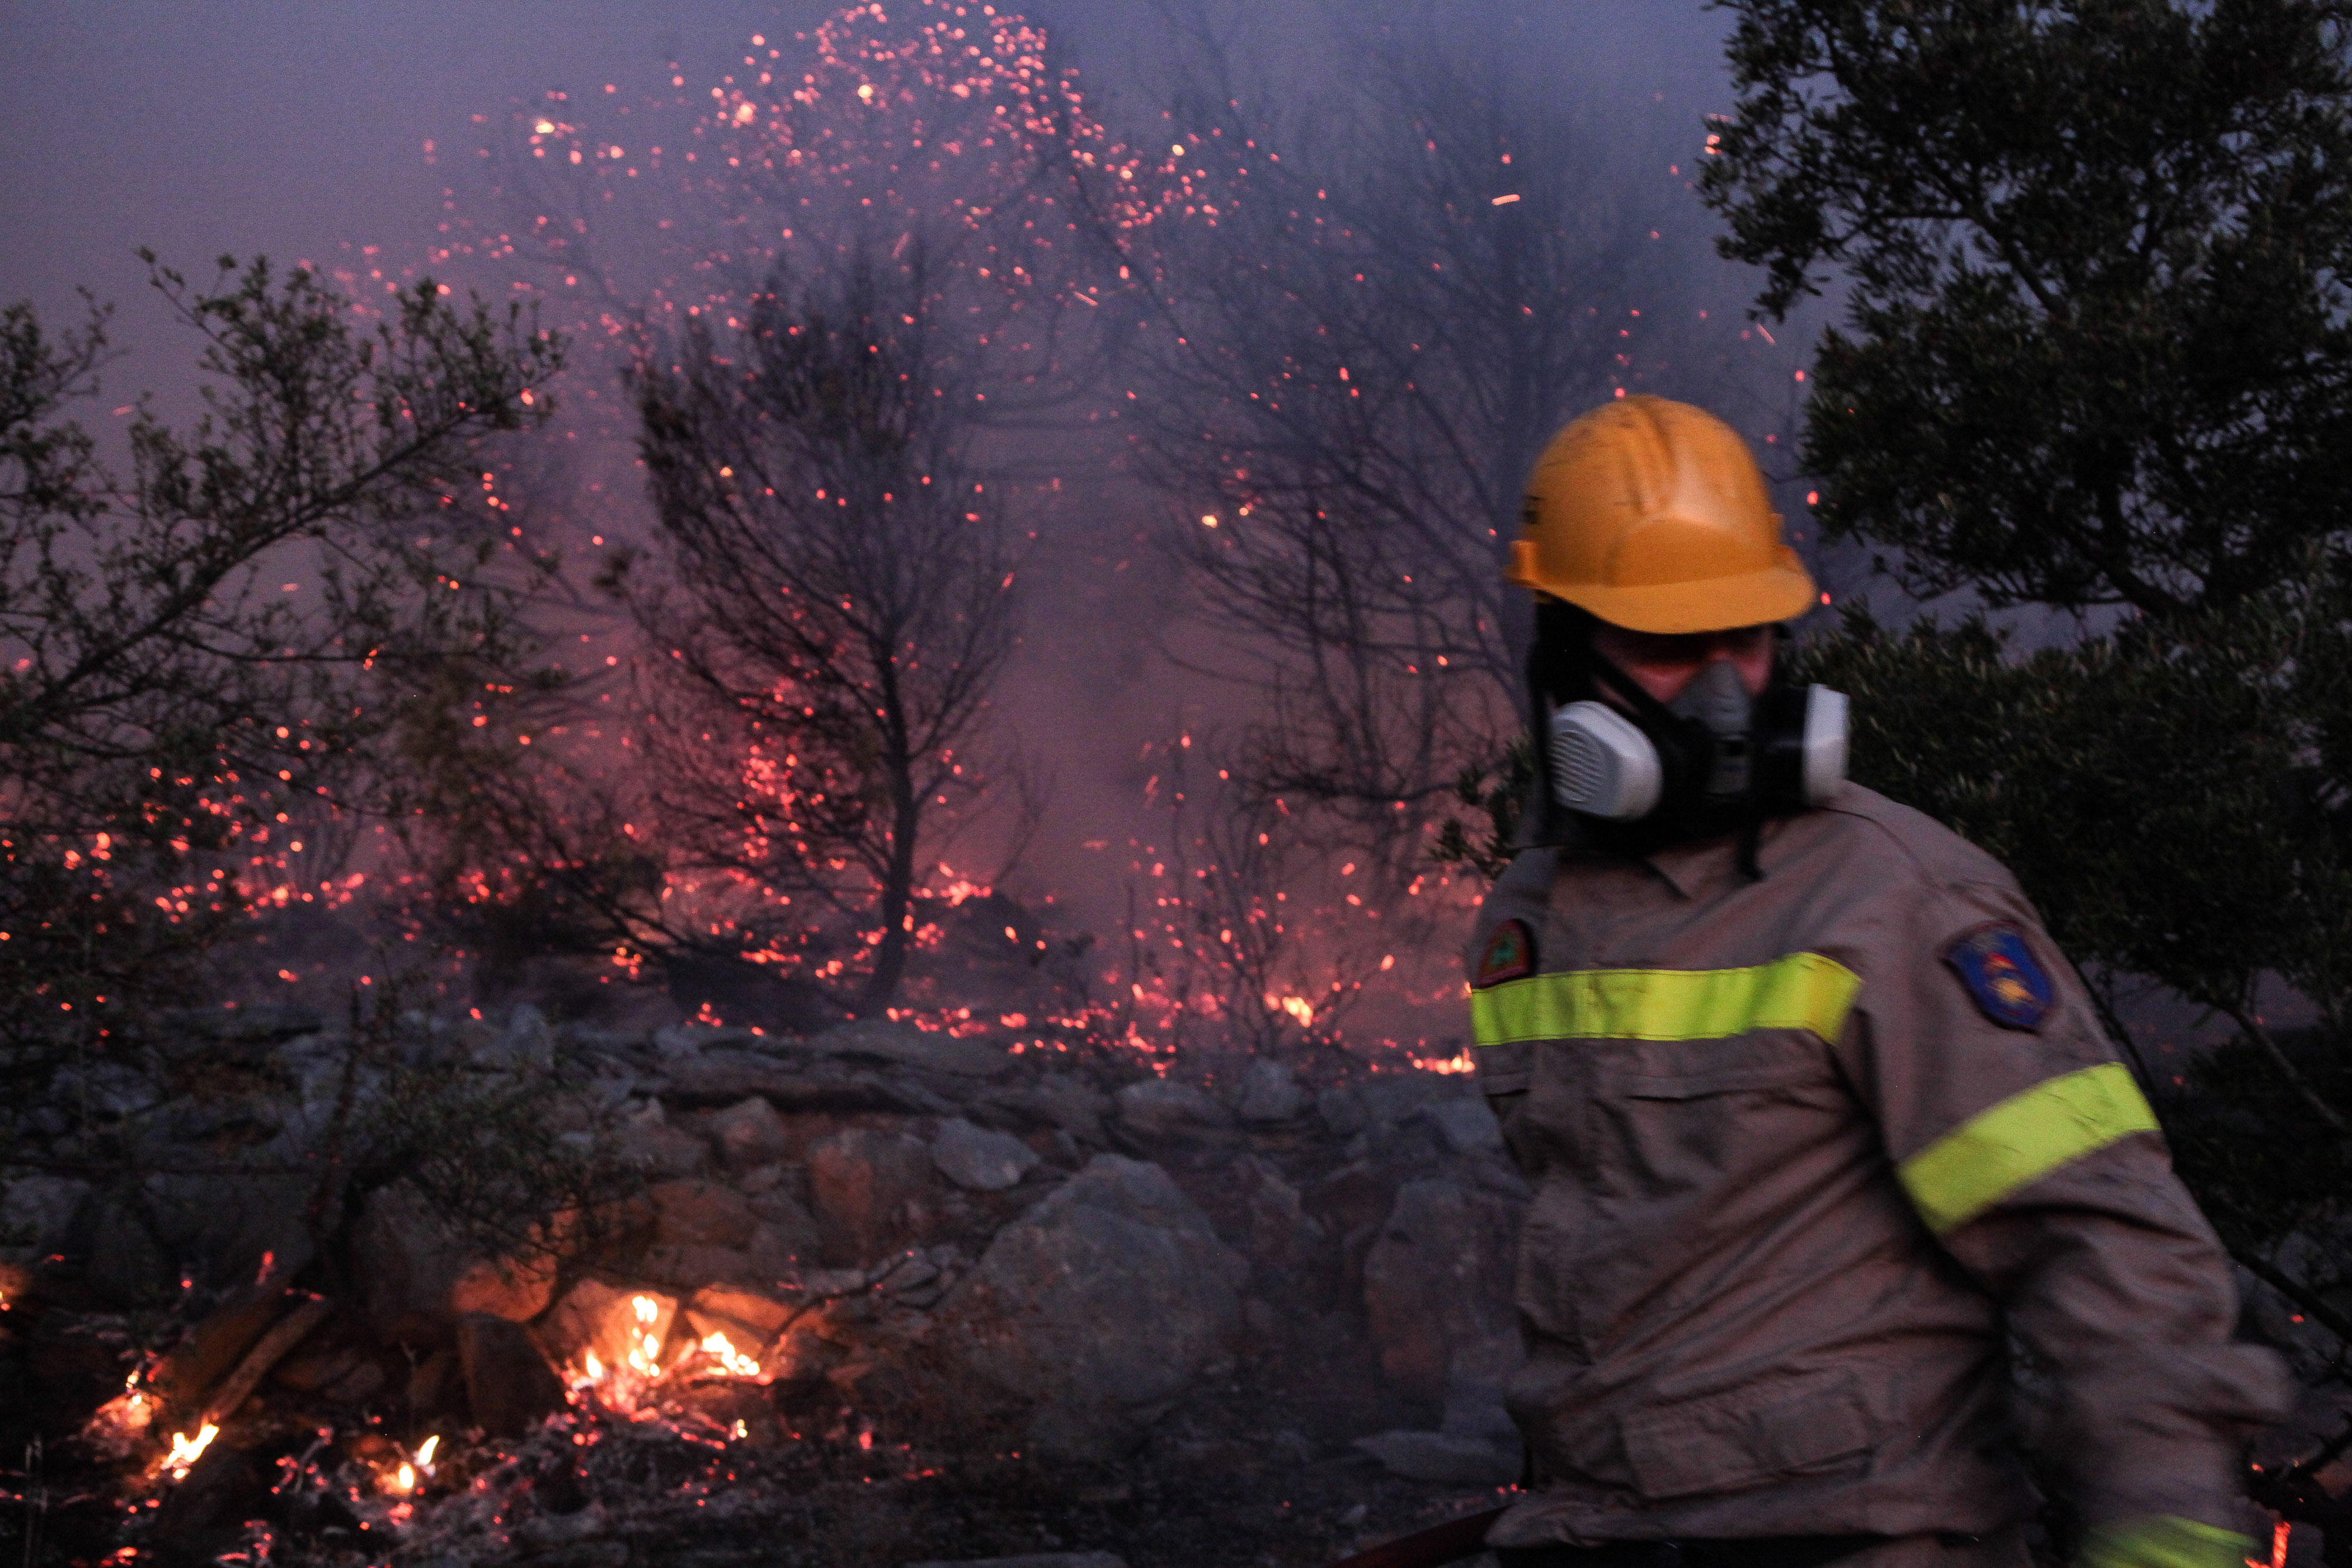
<path fill-rule="evenodd" d="M 2227 1255 L 2079 976 L 1992 879 L 1917 889 L 1846 957 L 1846 1072 L 1919 1220 L 2053 1385 L 2037 1446 L 2086 1556 L 2234 1563 L 2239 1439 L 2284 1410 L 2284 1366 L 2230 1342 Z"/>

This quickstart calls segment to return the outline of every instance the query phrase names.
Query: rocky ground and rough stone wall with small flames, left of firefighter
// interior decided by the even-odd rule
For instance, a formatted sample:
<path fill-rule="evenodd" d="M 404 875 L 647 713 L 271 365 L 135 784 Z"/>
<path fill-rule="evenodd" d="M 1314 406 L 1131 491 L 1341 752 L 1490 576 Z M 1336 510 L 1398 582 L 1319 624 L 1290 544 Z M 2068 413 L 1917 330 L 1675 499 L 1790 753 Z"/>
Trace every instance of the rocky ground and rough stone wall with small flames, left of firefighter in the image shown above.
<path fill-rule="evenodd" d="M 0 1208 L 26 1563 L 1303 1566 L 1517 1476 L 1522 1187 L 1458 1077 L 529 1004 L 181 1034 L 66 1086 L 141 1175 L 59 1135 Z M 623 1182 L 487 1246 L 456 1154 L 339 1168 L 414 1081 Z"/>

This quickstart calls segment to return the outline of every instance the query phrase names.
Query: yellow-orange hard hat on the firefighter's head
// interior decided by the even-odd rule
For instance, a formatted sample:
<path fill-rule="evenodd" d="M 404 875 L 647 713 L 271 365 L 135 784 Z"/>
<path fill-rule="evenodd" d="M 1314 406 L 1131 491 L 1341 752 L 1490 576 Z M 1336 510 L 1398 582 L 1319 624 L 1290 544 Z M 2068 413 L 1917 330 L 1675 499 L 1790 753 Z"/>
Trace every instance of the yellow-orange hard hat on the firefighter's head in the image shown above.
<path fill-rule="evenodd" d="M 1811 609 L 1738 430 L 1665 397 L 1604 402 L 1526 480 L 1510 581 L 1635 632 L 1722 632 Z"/>

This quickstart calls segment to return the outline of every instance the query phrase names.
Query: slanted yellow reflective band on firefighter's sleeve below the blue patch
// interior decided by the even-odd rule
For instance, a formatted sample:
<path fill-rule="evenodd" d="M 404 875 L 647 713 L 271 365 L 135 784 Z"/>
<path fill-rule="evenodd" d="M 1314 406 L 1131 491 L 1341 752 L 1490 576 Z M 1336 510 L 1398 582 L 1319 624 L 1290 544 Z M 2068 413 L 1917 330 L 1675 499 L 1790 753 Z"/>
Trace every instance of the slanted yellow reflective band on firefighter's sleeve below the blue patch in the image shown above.
<path fill-rule="evenodd" d="M 2025 1093 L 1926 1145 L 1896 1175 L 1938 1237 L 2011 1192 L 2131 1133 L 2154 1133 L 2157 1114 L 2122 1063 L 2084 1067 Z"/>

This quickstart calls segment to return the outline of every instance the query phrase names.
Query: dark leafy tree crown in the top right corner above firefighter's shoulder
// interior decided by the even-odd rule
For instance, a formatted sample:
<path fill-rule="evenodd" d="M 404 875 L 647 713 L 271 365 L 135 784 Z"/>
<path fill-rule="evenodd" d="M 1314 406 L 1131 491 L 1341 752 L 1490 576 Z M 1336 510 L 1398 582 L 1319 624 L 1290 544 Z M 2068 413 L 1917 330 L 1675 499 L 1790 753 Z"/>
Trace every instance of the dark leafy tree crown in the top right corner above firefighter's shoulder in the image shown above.
<path fill-rule="evenodd" d="M 1849 284 L 1804 463 L 1912 592 L 2176 614 L 2352 524 L 2352 5 L 1731 0 L 1700 190 Z"/>

